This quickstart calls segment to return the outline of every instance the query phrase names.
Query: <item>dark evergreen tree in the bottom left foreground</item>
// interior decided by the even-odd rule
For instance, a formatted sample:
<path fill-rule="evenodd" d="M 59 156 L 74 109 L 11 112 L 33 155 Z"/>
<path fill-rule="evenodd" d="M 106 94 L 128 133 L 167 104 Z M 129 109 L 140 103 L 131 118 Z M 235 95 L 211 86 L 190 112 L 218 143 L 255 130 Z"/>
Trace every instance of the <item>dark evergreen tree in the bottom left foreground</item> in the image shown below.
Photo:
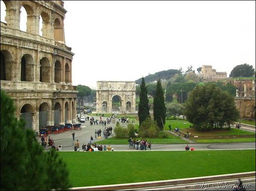
<path fill-rule="evenodd" d="M 55 151 L 43 152 L 32 129 L 15 117 L 1 90 L 1 190 L 68 190 L 68 170 Z"/>

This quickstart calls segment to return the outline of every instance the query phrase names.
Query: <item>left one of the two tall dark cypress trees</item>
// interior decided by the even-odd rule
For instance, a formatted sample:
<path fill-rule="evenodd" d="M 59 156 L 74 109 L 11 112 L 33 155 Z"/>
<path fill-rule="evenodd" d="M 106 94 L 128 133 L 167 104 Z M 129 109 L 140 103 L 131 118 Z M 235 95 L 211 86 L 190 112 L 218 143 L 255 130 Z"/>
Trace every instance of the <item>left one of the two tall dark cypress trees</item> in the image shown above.
<path fill-rule="evenodd" d="M 149 114 L 149 106 L 148 106 L 148 99 L 147 99 L 147 87 L 145 84 L 144 77 L 142 77 L 141 81 L 141 92 L 140 92 L 140 102 L 138 104 L 138 120 L 139 125 L 147 119 L 147 117 L 150 117 Z"/>

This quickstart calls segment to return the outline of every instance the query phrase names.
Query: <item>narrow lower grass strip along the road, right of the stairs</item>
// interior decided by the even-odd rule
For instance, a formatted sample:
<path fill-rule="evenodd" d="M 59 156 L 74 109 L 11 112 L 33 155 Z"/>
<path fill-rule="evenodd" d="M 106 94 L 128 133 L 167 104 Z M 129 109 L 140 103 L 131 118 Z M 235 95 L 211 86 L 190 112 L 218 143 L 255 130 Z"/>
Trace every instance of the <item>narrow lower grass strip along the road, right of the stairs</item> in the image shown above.
<path fill-rule="evenodd" d="M 255 142 L 255 138 L 230 138 L 230 139 L 191 139 L 197 143 L 239 143 Z"/>

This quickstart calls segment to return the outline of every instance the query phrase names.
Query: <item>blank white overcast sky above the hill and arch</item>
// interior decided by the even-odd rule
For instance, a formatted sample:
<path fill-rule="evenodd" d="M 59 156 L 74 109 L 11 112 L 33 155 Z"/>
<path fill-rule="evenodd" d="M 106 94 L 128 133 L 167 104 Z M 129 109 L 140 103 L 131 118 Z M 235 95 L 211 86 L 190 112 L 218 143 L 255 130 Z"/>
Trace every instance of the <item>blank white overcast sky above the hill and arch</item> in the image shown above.
<path fill-rule="evenodd" d="M 190 65 L 228 75 L 239 64 L 255 67 L 255 1 L 64 2 L 73 85 Z"/>

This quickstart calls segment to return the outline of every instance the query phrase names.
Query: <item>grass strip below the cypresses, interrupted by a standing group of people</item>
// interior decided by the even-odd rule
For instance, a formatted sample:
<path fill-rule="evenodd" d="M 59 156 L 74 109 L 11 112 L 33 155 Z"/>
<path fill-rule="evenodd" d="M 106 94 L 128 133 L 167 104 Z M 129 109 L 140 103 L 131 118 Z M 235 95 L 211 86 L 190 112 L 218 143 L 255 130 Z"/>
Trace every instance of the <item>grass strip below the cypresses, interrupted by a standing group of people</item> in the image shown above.
<path fill-rule="evenodd" d="M 138 137 L 137 139 L 140 139 Z M 128 145 L 128 139 L 120 139 L 120 138 L 109 138 L 102 141 L 96 142 L 97 144 L 102 145 Z M 145 140 L 151 141 L 152 144 L 168 144 L 168 143 L 187 143 L 186 141 L 176 137 L 172 134 L 168 135 L 168 138 L 144 138 Z"/>

